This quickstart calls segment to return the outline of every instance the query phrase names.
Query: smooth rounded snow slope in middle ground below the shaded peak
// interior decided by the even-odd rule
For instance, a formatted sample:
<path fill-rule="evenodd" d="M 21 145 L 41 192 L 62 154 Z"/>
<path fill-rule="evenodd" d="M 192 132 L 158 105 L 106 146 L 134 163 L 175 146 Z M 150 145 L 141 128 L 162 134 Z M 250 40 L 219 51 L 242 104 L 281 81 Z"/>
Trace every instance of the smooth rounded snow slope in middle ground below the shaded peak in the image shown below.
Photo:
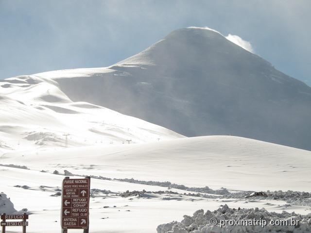
<path fill-rule="evenodd" d="M 53 172 L 237 190 L 311 191 L 311 152 L 234 136 L 4 154 L 2 164 Z"/>

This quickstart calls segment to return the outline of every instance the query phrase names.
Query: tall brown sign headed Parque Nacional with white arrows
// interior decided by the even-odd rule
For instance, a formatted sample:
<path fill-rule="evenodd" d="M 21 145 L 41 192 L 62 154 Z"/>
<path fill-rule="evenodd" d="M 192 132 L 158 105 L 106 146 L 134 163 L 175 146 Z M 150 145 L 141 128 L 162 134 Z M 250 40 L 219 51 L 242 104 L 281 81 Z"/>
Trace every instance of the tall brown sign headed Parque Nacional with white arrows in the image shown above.
<path fill-rule="evenodd" d="M 62 190 L 62 228 L 87 229 L 89 179 L 64 179 Z"/>

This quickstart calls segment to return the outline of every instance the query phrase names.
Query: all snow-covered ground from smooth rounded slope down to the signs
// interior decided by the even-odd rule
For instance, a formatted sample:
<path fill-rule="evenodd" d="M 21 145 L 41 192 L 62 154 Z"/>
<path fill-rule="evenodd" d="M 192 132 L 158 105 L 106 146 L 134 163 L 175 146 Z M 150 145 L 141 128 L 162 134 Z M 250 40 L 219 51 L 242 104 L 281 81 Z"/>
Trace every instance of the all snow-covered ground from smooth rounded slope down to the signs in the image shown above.
<path fill-rule="evenodd" d="M 213 211 L 225 204 L 230 208 L 258 207 L 277 213 L 311 213 L 310 196 L 299 199 L 306 205 L 291 204 L 289 199 L 280 198 L 283 193 L 245 198 L 251 190 L 310 192 L 311 152 L 240 137 L 206 136 L 132 145 L 15 151 L 2 155 L 0 163 L 7 165 L 0 166 L 1 191 L 11 198 L 15 209 L 27 208 L 32 213 L 30 233 L 39 233 L 42 228 L 47 233 L 60 229 L 61 201 L 57 192 L 64 176 L 52 174 L 54 170 L 99 178 L 91 179 L 91 233 L 156 232 L 160 224 L 181 221 L 182 216 L 192 216 L 198 209 Z M 229 194 L 213 194 L 209 190 L 199 195 L 182 187 L 113 180 L 132 177 L 188 187 L 225 187 Z M 153 193 L 121 197 L 126 190 Z"/>

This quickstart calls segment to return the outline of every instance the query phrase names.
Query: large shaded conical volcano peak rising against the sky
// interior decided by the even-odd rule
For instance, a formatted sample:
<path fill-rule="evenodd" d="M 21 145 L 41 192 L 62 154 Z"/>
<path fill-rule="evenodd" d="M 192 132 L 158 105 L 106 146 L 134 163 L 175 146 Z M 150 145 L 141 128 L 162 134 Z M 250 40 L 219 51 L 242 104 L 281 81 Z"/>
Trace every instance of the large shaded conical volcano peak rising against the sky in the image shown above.
<path fill-rule="evenodd" d="M 186 136 L 237 135 L 311 150 L 311 88 L 220 33 L 176 30 L 108 68 L 36 74 L 74 101 Z"/>

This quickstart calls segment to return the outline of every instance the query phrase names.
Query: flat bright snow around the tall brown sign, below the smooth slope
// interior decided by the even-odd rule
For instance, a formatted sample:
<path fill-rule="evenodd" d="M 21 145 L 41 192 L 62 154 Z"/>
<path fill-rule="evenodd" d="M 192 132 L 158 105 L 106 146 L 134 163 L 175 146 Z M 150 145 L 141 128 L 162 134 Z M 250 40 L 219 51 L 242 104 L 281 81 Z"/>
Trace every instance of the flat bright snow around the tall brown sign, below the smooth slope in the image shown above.
<path fill-rule="evenodd" d="M 41 233 L 41 229 L 47 233 L 59 231 L 61 200 L 59 196 L 51 195 L 59 192 L 64 176 L 12 167 L 1 167 L 0 175 L 1 189 L 10 195 L 15 208 L 27 208 L 31 213 L 28 232 Z M 179 194 L 146 194 L 140 198 L 116 196 L 125 190 L 143 189 Z M 208 199 L 183 195 L 184 190 L 120 181 L 91 179 L 91 190 L 91 233 L 156 232 L 156 227 L 162 223 L 180 221 L 183 215 L 192 215 L 197 209 L 214 210 L 225 204 L 231 208 L 258 207 L 278 213 L 286 210 L 306 215 L 311 212 L 310 206 L 290 205 L 282 200 Z"/>

